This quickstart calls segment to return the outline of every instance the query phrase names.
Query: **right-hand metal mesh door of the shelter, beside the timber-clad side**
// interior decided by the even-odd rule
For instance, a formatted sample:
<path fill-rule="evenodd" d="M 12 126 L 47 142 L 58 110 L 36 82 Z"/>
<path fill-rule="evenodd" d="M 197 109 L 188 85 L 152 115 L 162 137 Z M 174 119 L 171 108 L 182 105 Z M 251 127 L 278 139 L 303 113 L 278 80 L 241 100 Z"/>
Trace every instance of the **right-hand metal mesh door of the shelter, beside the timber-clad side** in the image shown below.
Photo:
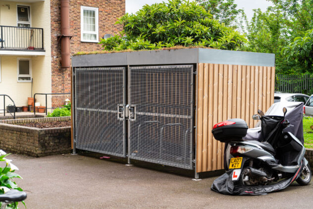
<path fill-rule="evenodd" d="M 193 66 L 129 69 L 129 157 L 192 169 Z"/>

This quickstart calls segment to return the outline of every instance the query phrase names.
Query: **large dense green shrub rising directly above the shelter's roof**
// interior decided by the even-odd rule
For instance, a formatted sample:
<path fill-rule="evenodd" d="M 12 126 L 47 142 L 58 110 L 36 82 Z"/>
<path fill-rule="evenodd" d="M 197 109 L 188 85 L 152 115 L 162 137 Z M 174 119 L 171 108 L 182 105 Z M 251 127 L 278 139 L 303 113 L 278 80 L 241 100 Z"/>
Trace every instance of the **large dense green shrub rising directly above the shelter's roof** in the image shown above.
<path fill-rule="evenodd" d="M 102 39 L 104 50 L 157 50 L 174 46 L 239 50 L 246 39 L 239 32 L 213 19 L 197 2 L 169 0 L 144 5 L 136 14 L 126 13 L 116 24 L 123 30 Z"/>

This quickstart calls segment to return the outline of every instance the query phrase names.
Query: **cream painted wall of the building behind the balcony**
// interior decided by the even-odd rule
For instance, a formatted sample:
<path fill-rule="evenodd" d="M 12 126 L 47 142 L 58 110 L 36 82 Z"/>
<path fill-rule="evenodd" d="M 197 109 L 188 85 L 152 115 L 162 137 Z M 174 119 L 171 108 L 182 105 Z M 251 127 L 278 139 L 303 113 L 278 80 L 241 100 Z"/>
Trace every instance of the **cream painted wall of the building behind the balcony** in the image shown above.
<path fill-rule="evenodd" d="M 5 4 L 10 5 L 8 9 Z M 27 105 L 27 97 L 35 93 L 51 93 L 51 24 L 50 0 L 35 3 L 18 3 L 0 1 L 0 25 L 17 26 L 16 5 L 30 5 L 31 27 L 44 29 L 44 56 L 11 56 L 2 55 L 0 94 L 7 94 L 17 106 Z M 17 82 L 17 57 L 28 57 L 32 60 L 33 91 L 31 83 Z M 31 92 L 32 91 L 32 92 Z M 44 96 L 36 96 L 37 102 L 45 105 Z M 0 109 L 3 109 L 3 99 L 0 98 Z M 51 107 L 51 96 L 48 97 L 48 107 Z"/>

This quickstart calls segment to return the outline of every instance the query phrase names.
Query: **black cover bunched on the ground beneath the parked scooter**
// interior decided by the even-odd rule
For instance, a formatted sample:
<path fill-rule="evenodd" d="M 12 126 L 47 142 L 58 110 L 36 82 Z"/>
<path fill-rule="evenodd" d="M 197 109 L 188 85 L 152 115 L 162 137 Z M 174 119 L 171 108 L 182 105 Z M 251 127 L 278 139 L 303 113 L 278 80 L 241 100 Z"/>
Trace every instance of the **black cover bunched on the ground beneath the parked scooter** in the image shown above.
<path fill-rule="evenodd" d="M 301 163 L 300 168 L 298 169 L 296 174 L 291 176 L 290 178 L 286 178 L 282 181 L 279 181 L 276 184 L 264 185 L 264 186 L 236 185 L 232 181 L 233 170 L 229 170 L 214 180 L 211 186 L 211 190 L 215 192 L 219 192 L 224 195 L 266 195 L 267 193 L 276 192 L 276 191 L 279 191 L 288 187 L 301 174 L 300 171 L 303 168 L 302 164 L 303 163 Z"/>

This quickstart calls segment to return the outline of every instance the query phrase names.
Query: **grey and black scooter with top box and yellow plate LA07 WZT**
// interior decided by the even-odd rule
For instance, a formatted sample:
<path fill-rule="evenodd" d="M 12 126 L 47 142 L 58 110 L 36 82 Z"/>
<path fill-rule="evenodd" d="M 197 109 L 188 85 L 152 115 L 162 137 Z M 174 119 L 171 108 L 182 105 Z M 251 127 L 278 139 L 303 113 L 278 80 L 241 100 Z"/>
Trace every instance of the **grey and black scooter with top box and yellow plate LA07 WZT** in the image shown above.
<path fill-rule="evenodd" d="M 223 194 L 265 194 L 281 190 L 294 180 L 308 185 L 312 171 L 304 157 L 306 149 L 290 132 L 284 116 L 268 116 L 259 110 L 253 119 L 261 119 L 261 142 L 247 141 L 248 126 L 242 119 L 229 119 L 214 125 L 215 139 L 229 143 L 226 151 L 228 170 L 213 182 L 212 190 Z M 232 184 L 231 184 L 232 183 Z"/>

